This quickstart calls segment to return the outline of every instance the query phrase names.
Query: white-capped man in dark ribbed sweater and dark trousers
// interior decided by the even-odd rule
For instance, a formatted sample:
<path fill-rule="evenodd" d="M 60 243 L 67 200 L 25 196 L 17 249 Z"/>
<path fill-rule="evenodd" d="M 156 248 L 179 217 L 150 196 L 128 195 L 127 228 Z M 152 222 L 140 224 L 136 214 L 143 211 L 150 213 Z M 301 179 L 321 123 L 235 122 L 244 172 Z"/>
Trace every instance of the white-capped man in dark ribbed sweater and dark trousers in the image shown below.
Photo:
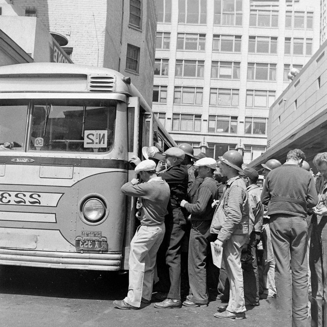
<path fill-rule="evenodd" d="M 188 251 L 188 277 L 190 294 L 183 305 L 196 307 L 208 306 L 206 257 L 210 242 L 210 225 L 215 210 L 212 203 L 217 199 L 217 186 L 213 179 L 216 161 L 213 158 L 202 158 L 194 164 L 203 179 L 192 203 L 181 201 L 191 214 L 191 232 Z"/>

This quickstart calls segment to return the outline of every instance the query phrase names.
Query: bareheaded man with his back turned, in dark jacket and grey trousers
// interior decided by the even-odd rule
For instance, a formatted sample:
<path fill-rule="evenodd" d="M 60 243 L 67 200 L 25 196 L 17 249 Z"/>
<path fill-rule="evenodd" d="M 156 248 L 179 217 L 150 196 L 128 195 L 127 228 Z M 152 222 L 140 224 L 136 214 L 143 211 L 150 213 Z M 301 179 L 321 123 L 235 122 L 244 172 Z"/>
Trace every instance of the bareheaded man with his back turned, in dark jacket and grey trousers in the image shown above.
<path fill-rule="evenodd" d="M 303 151 L 290 150 L 286 163 L 266 177 L 261 202 L 268 206 L 269 228 L 276 261 L 277 307 L 290 316 L 292 326 L 307 322 L 307 208 L 318 203 L 315 182 L 300 166 Z M 290 274 L 292 262 L 292 277 Z M 287 321 L 285 321 L 287 326 Z"/>

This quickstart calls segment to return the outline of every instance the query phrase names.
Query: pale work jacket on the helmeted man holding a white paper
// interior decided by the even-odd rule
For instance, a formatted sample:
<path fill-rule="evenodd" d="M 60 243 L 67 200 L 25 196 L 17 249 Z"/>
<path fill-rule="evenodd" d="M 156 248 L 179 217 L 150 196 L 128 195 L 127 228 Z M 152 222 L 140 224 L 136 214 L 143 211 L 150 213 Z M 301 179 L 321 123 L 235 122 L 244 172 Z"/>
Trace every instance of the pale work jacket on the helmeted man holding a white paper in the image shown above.
<path fill-rule="evenodd" d="M 225 242 L 232 234 L 249 233 L 248 191 L 240 176 L 229 179 L 212 219 L 210 232 L 218 234 L 217 238 Z"/>

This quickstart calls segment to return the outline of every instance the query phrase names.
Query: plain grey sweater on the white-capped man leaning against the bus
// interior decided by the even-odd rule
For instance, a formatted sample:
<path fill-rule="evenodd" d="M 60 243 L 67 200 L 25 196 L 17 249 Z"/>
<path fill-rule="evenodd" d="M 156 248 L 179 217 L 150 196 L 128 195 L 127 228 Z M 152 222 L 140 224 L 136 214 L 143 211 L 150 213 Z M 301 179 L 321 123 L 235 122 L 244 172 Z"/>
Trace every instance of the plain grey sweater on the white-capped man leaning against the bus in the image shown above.
<path fill-rule="evenodd" d="M 121 187 L 121 192 L 140 199 L 142 225 L 155 226 L 163 223 L 164 216 L 168 214 L 170 190 L 169 185 L 161 177 L 154 177 L 137 185 L 127 182 Z"/>

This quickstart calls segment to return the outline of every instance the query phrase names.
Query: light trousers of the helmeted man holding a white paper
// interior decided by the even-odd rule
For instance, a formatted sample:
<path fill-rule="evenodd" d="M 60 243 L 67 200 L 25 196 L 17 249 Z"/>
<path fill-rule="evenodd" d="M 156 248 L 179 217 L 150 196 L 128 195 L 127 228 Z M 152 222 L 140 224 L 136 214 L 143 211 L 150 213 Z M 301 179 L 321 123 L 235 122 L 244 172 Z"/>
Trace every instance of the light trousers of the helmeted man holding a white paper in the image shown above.
<path fill-rule="evenodd" d="M 241 267 L 241 251 L 246 241 L 246 234 L 232 235 L 223 244 L 222 259 L 230 283 L 230 295 L 227 310 L 230 312 L 244 312 L 244 287 Z"/>

